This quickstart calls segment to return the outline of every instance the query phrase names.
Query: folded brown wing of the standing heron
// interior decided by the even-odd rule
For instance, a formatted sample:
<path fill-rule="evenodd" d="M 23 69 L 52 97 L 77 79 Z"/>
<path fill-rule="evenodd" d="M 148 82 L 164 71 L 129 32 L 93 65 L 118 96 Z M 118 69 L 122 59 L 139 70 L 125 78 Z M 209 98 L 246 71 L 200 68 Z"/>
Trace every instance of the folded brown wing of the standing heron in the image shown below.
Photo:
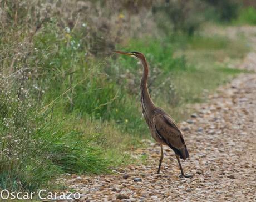
<path fill-rule="evenodd" d="M 156 133 L 171 148 L 184 148 L 185 142 L 178 126 L 169 115 L 158 114 L 153 118 Z"/>

